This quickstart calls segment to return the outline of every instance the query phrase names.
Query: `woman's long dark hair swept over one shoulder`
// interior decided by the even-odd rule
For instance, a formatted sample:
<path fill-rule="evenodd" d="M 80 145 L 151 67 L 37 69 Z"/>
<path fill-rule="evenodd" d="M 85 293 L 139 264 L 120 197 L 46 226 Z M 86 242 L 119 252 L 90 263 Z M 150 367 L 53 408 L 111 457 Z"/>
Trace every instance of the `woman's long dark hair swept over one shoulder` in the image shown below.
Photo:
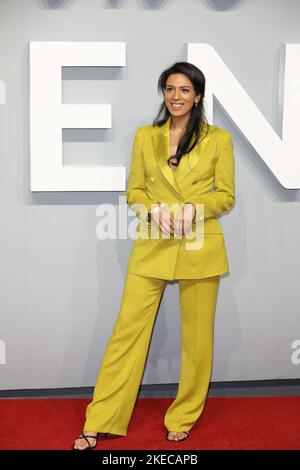
<path fill-rule="evenodd" d="M 164 70 L 159 79 L 158 79 L 158 92 L 164 94 L 166 88 L 167 79 L 170 75 L 174 73 L 182 73 L 186 75 L 193 84 L 196 95 L 200 95 L 200 101 L 197 106 L 193 105 L 190 113 L 190 119 L 187 124 L 185 134 L 180 138 L 177 146 L 177 151 L 175 155 L 172 155 L 168 159 L 168 163 L 171 158 L 176 158 L 177 165 L 180 162 L 180 159 L 186 153 L 191 152 L 195 145 L 200 140 L 202 136 L 202 130 L 204 125 L 206 125 L 207 132 L 209 130 L 209 124 L 207 122 L 206 116 L 204 114 L 203 98 L 205 95 L 205 76 L 198 67 L 189 62 L 176 62 L 168 69 Z M 165 101 L 160 105 L 159 112 L 155 117 L 152 125 L 153 126 L 162 126 L 168 120 L 170 112 L 165 104 Z"/>

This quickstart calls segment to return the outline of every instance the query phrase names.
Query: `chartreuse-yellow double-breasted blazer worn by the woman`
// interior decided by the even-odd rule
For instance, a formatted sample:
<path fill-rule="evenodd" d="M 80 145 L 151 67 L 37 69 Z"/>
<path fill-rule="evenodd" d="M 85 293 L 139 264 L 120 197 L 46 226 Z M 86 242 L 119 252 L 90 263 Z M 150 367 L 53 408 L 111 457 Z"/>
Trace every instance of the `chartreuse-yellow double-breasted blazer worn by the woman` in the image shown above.
<path fill-rule="evenodd" d="M 145 125 L 135 133 L 126 200 L 140 220 L 128 271 L 166 280 L 224 274 L 228 272 L 228 260 L 217 216 L 227 211 L 235 199 L 231 134 L 210 125 L 206 135 L 205 128 L 194 149 L 181 158 L 176 170 L 172 170 L 167 163 L 170 123 L 171 117 L 161 127 Z M 158 236 L 150 238 L 151 223 L 147 223 L 146 218 L 151 205 L 163 203 L 168 208 L 177 204 L 180 210 L 186 202 L 204 204 L 204 218 L 201 219 L 203 211 L 197 210 L 193 222 L 195 230 L 203 220 L 201 248 L 187 249 L 185 237 L 162 238 L 159 229 Z M 176 211 L 174 213 L 176 215 Z M 152 227 L 154 225 L 153 222 Z M 196 238 L 195 241 L 189 239 L 189 247 L 196 242 Z"/>

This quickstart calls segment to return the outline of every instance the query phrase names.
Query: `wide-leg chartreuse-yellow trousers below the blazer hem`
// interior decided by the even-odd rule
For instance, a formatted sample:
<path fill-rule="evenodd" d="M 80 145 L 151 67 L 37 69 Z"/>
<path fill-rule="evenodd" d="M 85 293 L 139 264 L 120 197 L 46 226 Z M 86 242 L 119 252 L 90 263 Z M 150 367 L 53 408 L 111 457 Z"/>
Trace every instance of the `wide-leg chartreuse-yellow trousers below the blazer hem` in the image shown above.
<path fill-rule="evenodd" d="M 84 431 L 127 435 L 165 280 L 127 272 L 119 315 L 108 342 Z M 177 396 L 166 411 L 168 431 L 189 431 L 207 397 L 219 276 L 179 279 L 181 369 Z"/>

